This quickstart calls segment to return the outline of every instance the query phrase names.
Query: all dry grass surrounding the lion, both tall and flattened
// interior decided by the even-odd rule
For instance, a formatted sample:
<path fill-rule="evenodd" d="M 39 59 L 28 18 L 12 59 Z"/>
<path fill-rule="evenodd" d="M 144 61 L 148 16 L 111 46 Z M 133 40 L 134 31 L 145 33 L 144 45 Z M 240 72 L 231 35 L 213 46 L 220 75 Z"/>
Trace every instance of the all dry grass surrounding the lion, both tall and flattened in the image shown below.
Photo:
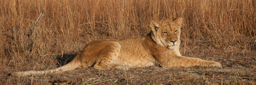
<path fill-rule="evenodd" d="M 0 22 L 6 30 L 0 28 L 4 34 L 0 83 L 6 85 L 256 84 L 255 0 L 1 0 L 0 4 Z M 29 31 L 40 9 L 44 18 Z M 64 65 L 91 40 L 144 36 L 150 31 L 149 22 L 163 17 L 183 17 L 183 56 L 221 62 L 224 68 L 79 68 L 62 74 L 8 76 Z"/>

